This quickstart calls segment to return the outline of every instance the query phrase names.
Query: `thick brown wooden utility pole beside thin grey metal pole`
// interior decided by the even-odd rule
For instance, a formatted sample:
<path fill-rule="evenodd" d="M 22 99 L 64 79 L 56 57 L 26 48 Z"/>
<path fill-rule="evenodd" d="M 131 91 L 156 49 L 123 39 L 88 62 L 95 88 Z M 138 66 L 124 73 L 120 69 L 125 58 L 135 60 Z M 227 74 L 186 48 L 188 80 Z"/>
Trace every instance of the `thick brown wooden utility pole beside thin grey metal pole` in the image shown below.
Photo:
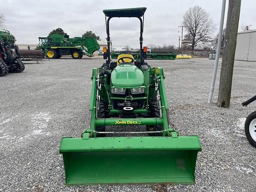
<path fill-rule="evenodd" d="M 223 58 L 220 71 L 220 86 L 217 102 L 218 107 L 228 108 L 230 106 L 240 7 L 241 0 L 228 1 L 228 20 L 225 30 L 226 41 L 223 50 Z"/>

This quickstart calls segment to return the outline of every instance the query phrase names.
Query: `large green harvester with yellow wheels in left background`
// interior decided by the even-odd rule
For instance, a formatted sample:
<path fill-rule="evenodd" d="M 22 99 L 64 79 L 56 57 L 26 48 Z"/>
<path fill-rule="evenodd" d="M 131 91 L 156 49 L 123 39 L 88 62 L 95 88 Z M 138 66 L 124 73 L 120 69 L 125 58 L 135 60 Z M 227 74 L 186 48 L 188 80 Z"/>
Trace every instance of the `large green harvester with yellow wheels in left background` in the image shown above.
<path fill-rule="evenodd" d="M 59 59 L 63 55 L 71 55 L 73 59 L 81 59 L 83 55 L 92 57 L 93 52 L 100 49 L 97 40 L 91 37 L 69 38 L 67 34 L 52 34 L 38 39 L 36 49 L 42 49 L 44 56 L 52 59 Z"/>

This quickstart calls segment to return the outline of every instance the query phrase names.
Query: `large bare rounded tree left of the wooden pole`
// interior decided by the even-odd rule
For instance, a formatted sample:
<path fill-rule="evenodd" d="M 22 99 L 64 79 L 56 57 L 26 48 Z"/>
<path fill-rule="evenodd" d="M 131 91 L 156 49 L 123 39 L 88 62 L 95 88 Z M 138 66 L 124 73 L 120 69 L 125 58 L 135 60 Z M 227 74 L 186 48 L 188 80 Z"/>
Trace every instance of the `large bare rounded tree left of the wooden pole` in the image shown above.
<path fill-rule="evenodd" d="M 187 44 L 186 47 L 191 47 L 192 51 L 197 44 L 210 41 L 215 29 L 209 13 L 198 5 L 185 12 L 182 25 L 188 32 L 185 35 L 186 43 L 184 44 Z"/>

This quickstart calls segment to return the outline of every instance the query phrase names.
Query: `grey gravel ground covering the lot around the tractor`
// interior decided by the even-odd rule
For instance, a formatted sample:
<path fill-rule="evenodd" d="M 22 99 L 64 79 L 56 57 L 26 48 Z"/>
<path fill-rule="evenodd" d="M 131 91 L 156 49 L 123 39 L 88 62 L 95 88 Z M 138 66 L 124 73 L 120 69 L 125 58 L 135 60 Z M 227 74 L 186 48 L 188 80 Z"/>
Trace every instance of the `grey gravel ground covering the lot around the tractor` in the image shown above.
<path fill-rule="evenodd" d="M 218 108 L 219 79 L 214 103 L 207 104 L 214 64 L 207 59 L 148 60 L 164 68 L 173 126 L 200 137 L 196 184 L 65 186 L 60 139 L 79 137 L 88 125 L 91 72 L 103 61 L 26 62 L 24 72 L 0 77 L 1 192 L 256 191 L 256 149 L 243 130 L 256 103 L 241 106 L 255 95 L 256 63 L 235 62 L 231 107 Z"/>

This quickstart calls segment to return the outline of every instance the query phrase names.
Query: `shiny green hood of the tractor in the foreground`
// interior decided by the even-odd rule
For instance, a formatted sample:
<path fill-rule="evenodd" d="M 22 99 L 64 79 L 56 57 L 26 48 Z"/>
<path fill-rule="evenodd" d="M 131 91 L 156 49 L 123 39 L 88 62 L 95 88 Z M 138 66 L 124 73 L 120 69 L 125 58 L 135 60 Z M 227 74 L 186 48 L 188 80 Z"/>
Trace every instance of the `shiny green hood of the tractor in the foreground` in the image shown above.
<path fill-rule="evenodd" d="M 117 87 L 143 86 L 144 76 L 134 64 L 120 64 L 112 71 L 111 85 Z"/>

